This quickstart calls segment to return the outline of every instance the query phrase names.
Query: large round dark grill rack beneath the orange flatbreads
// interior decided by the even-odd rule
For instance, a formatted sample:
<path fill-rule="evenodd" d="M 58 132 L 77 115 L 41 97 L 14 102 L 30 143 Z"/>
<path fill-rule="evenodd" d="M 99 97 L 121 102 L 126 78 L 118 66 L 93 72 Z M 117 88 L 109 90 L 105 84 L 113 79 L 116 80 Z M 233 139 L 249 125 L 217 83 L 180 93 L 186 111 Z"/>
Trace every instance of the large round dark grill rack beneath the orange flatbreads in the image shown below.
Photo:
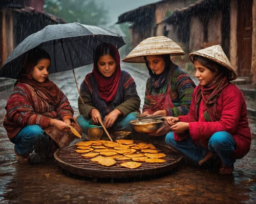
<path fill-rule="evenodd" d="M 155 145 L 155 144 L 154 144 Z M 95 177 L 95 178 L 129 178 L 138 176 L 148 176 L 170 172 L 175 169 L 182 159 L 182 154 L 173 151 L 168 146 L 155 145 L 156 148 L 161 149 L 159 153 L 164 153 L 166 157 L 163 159 L 165 163 L 145 163 L 140 162 L 142 165 L 137 169 L 129 169 L 120 166 L 121 163 L 131 162 L 132 160 L 116 161 L 116 164 L 111 167 L 106 167 L 92 162 L 91 158 L 84 158 L 80 153 L 77 153 L 76 145 L 62 147 L 57 149 L 54 153 L 54 157 L 59 166 L 71 173 Z"/>

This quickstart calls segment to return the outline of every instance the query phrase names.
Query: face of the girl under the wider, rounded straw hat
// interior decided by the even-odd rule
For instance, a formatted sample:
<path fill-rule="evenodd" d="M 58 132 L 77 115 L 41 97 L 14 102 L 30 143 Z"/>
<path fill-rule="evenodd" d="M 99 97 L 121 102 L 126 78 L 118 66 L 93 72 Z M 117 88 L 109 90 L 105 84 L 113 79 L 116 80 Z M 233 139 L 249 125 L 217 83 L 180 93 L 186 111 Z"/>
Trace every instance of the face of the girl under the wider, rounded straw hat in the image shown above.
<path fill-rule="evenodd" d="M 146 56 L 146 60 L 148 61 L 148 66 L 156 75 L 163 73 L 165 66 L 163 57 L 159 55 L 150 55 Z"/>

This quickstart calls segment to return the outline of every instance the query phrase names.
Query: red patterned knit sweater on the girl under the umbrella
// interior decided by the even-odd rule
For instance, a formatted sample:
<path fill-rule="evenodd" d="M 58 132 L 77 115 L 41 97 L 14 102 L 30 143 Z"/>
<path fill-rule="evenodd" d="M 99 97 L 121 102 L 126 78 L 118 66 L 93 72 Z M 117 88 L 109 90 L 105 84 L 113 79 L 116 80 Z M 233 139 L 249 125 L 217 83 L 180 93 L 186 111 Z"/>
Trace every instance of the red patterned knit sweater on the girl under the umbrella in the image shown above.
<path fill-rule="evenodd" d="M 59 147 L 68 145 L 73 139 L 72 132 L 60 132 L 56 127 L 49 126 L 50 119 L 64 121 L 71 119 L 72 126 L 81 134 L 80 127 L 74 123 L 74 110 L 67 97 L 59 90 L 57 105 L 48 104 L 46 96 L 26 83 L 18 83 L 6 104 L 4 127 L 9 139 L 27 125 L 38 125 L 58 144 Z"/>

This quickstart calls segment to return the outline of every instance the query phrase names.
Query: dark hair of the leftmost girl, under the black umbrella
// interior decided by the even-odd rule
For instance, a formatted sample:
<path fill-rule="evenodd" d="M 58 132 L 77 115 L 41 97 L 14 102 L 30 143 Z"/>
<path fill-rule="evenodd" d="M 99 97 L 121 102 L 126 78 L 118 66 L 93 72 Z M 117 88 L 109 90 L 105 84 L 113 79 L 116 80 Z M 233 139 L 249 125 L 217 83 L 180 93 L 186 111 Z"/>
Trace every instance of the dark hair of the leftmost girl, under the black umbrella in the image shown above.
<path fill-rule="evenodd" d="M 51 61 L 50 55 L 41 48 L 33 48 L 27 51 L 23 59 L 22 74 L 31 74 L 41 59 L 49 59 Z"/>

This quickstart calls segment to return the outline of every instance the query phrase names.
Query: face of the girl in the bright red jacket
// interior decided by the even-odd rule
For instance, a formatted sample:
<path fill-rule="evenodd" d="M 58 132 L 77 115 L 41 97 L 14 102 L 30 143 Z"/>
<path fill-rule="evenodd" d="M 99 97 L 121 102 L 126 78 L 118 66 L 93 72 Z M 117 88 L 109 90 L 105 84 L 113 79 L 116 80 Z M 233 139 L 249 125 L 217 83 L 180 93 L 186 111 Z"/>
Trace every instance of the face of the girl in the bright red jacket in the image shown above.
<path fill-rule="evenodd" d="M 206 66 L 202 65 L 199 61 L 194 61 L 196 68 L 196 77 L 202 86 L 207 86 L 214 80 L 216 72 L 211 72 Z"/>

